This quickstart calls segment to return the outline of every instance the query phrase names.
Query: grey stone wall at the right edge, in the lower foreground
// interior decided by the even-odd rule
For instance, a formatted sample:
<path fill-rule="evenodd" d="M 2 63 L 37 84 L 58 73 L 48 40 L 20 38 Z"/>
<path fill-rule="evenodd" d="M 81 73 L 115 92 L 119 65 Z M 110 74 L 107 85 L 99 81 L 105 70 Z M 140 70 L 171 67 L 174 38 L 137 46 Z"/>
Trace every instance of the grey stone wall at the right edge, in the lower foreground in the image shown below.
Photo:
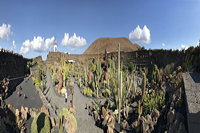
<path fill-rule="evenodd" d="M 200 73 L 183 74 L 187 100 L 187 121 L 189 133 L 200 131 Z"/>

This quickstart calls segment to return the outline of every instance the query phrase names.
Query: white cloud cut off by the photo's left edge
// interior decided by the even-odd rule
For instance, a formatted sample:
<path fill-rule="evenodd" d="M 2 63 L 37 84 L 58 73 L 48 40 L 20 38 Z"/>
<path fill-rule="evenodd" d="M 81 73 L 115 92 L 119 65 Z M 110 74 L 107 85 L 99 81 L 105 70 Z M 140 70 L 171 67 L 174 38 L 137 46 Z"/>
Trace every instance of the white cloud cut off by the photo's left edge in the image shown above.
<path fill-rule="evenodd" d="M 0 26 L 0 38 L 1 39 L 9 39 L 9 36 L 12 34 L 11 25 L 10 24 L 2 24 Z"/>

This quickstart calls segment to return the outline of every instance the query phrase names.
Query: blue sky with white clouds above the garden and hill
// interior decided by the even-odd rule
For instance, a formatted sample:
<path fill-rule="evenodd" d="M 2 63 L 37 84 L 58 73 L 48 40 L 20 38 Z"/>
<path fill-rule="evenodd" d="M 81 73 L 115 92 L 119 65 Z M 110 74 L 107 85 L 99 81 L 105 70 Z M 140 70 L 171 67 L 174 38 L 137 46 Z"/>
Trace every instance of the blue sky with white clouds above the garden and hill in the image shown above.
<path fill-rule="evenodd" d="M 200 39 L 198 0 L 0 0 L 0 47 L 24 57 L 82 54 L 102 37 L 146 49 L 182 49 Z M 122 44 L 123 45 L 123 44 Z"/>

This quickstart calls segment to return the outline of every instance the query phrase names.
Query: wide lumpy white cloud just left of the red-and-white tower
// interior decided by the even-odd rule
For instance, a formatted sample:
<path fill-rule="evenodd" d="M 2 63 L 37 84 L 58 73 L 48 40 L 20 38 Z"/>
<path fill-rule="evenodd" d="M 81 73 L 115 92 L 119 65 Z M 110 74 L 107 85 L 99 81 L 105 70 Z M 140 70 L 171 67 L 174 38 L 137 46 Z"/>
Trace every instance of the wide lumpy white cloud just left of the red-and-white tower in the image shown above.
<path fill-rule="evenodd" d="M 55 42 L 55 37 L 44 39 L 41 36 L 34 37 L 32 41 L 25 40 L 20 49 L 20 53 L 25 54 L 30 50 L 36 52 L 44 52 L 49 50 L 53 43 Z"/>

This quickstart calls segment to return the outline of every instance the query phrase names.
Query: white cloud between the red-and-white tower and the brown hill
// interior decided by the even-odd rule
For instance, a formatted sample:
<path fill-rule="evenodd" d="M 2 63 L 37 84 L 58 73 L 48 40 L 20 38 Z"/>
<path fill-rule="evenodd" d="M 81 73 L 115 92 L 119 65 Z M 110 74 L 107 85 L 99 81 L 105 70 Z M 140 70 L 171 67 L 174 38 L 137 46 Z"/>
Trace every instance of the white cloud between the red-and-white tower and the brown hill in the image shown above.
<path fill-rule="evenodd" d="M 81 46 L 87 45 L 87 42 L 86 42 L 85 38 L 76 36 L 75 33 L 71 37 L 69 37 L 69 33 L 65 33 L 61 44 L 63 46 L 81 47 Z"/>

